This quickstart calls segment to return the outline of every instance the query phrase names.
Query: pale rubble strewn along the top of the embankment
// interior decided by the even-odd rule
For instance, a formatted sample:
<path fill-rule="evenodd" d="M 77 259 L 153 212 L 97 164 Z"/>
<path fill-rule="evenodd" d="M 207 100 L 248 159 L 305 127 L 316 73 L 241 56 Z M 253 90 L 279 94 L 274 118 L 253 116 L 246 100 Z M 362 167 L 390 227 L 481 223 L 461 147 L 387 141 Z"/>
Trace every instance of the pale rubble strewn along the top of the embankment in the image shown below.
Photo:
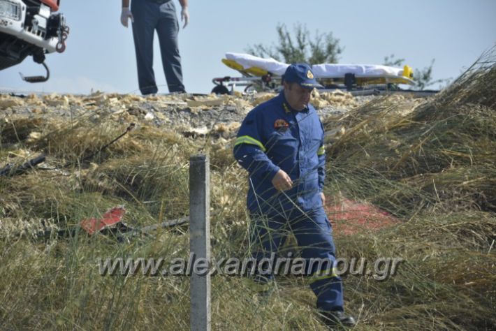
<path fill-rule="evenodd" d="M 240 122 L 256 105 L 268 101 L 276 94 L 193 95 L 167 94 L 138 96 L 136 94 L 105 94 L 96 91 L 85 96 L 72 94 L 0 94 L 1 121 L 13 116 L 57 119 L 59 127 L 67 120 L 100 122 L 111 118 L 115 122 L 140 123 L 158 128 L 173 129 L 186 137 L 231 139 L 235 136 Z M 314 91 L 312 104 L 322 119 L 339 115 L 356 108 L 370 97 L 353 97 L 342 91 L 321 93 Z M 405 108 L 407 109 L 407 108 Z M 41 130 L 32 124 L 27 142 L 34 144 L 43 137 Z M 15 134 L 15 133 L 13 133 Z"/>

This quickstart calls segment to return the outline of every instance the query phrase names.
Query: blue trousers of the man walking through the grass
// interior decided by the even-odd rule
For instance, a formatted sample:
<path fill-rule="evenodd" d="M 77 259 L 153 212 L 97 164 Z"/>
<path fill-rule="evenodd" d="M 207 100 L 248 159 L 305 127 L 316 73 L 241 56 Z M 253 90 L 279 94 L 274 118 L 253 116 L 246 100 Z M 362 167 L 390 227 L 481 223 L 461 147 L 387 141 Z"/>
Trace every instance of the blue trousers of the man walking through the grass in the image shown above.
<path fill-rule="evenodd" d="M 312 275 L 325 271 L 329 265 L 323 265 L 321 270 L 316 270 L 318 265 L 311 265 L 312 258 L 330 260 L 331 267 L 335 267 L 335 245 L 332 228 L 323 207 L 316 207 L 303 212 L 293 209 L 289 214 L 270 216 L 251 214 L 251 244 L 252 255 L 256 260 L 270 258 L 272 253 L 279 253 L 287 234 L 293 233 L 298 242 L 301 257 L 305 259 L 307 272 L 312 281 Z M 343 310 L 343 288 L 340 277 L 315 277 L 310 283 L 310 288 L 317 297 L 316 306 L 323 311 Z M 271 279 L 270 275 L 268 279 Z"/>

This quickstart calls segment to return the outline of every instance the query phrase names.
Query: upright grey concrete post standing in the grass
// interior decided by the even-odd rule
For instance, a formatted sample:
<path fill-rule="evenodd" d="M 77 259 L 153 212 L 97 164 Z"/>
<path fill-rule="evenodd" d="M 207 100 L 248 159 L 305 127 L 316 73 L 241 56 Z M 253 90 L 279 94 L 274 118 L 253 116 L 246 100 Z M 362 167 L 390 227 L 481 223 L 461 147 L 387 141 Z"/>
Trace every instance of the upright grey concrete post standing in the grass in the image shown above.
<path fill-rule="evenodd" d="M 200 259 L 210 263 L 210 163 L 205 155 L 189 159 L 189 250 L 195 264 Z M 210 272 L 193 268 L 189 296 L 191 331 L 210 331 Z"/>

